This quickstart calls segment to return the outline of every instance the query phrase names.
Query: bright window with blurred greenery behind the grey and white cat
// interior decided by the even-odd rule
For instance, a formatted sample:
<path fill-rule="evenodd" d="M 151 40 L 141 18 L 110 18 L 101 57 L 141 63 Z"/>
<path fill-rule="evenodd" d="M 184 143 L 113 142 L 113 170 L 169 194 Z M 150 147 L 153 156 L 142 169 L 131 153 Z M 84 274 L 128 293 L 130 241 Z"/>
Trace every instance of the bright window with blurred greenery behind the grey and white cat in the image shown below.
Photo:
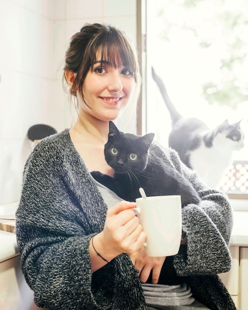
<path fill-rule="evenodd" d="M 246 118 L 245 147 L 234 151 L 219 186 L 248 197 L 248 2 L 153 0 L 146 5 L 145 131 L 168 146 L 171 120 L 151 78 L 153 66 L 183 116 L 197 117 L 211 129 L 225 119 Z"/>

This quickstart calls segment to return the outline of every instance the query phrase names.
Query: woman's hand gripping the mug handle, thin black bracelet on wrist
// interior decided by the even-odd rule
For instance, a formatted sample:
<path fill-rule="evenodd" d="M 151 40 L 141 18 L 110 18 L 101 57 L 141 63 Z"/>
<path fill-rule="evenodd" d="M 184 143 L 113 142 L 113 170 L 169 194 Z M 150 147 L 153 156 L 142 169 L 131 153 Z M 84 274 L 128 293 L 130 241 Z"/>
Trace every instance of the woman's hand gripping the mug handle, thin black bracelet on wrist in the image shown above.
<path fill-rule="evenodd" d="M 107 210 L 103 231 L 94 237 L 94 247 L 106 260 L 111 260 L 121 253 L 139 251 L 146 241 L 146 234 L 139 218 L 132 208 L 136 203 L 122 201 Z M 91 243 L 90 243 L 91 244 Z M 90 247 L 92 271 L 104 265 Z"/>

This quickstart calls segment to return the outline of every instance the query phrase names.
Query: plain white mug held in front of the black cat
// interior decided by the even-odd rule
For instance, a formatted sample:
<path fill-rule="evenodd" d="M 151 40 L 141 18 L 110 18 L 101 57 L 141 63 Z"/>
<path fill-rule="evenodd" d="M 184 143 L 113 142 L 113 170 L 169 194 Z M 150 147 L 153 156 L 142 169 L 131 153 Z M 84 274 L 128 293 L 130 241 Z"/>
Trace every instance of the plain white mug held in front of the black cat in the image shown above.
<path fill-rule="evenodd" d="M 179 251 L 182 236 L 181 196 L 152 196 L 136 199 L 140 222 L 147 235 L 148 256 L 172 256 Z"/>

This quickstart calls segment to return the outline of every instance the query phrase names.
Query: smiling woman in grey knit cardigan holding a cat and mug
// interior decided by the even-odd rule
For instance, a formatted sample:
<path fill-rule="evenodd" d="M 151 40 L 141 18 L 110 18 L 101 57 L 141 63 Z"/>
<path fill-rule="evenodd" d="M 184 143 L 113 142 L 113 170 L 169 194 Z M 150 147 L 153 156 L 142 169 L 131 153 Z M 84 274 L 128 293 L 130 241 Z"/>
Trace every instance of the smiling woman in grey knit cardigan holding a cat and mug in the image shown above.
<path fill-rule="evenodd" d="M 173 257 L 186 302 L 179 298 L 181 284 L 173 287 L 176 300 L 168 302 L 174 292 L 160 294 L 157 285 L 165 258 L 147 257 L 146 235 L 132 210 L 136 204 L 121 201 L 90 174 L 113 175 L 103 154 L 108 122 L 139 93 L 138 60 L 128 37 L 113 27 L 85 25 L 72 37 L 64 77 L 77 103 L 77 120 L 39 142 L 29 156 L 16 212 L 22 270 L 36 304 L 52 310 L 142 310 L 147 301 L 149 309 L 235 309 L 217 277 L 231 266 L 226 197 L 205 188 L 174 152 L 152 145 L 153 156 L 184 174 L 202 198 L 200 206 L 182 210 L 188 245 Z M 141 282 L 151 271 L 145 300 Z"/>

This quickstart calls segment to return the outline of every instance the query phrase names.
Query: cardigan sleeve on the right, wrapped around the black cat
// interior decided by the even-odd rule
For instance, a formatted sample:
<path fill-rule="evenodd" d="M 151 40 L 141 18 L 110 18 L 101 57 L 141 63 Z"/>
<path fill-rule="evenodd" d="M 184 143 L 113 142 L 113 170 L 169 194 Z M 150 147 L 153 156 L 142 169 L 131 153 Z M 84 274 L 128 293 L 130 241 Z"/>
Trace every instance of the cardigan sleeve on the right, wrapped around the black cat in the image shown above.
<path fill-rule="evenodd" d="M 199 205 L 182 208 L 182 230 L 188 245 L 181 246 L 174 257 L 177 275 L 211 275 L 230 270 L 232 260 L 228 247 L 233 214 L 226 195 L 204 186 L 197 173 L 186 167 L 175 151 L 167 150 L 160 156 L 165 160 L 169 157 L 171 164 L 191 182 L 202 200 Z"/>

